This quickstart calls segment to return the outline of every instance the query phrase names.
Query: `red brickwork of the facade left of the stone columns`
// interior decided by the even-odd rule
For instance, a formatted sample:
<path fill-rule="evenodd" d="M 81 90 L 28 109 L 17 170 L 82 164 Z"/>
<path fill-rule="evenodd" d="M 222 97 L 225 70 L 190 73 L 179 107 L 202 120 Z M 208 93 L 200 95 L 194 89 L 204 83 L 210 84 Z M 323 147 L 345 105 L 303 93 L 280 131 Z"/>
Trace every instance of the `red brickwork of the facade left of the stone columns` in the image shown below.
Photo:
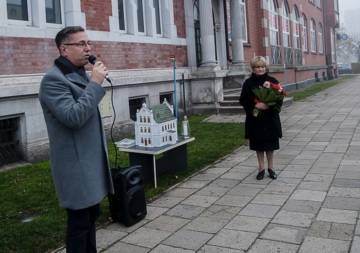
<path fill-rule="evenodd" d="M 186 38 L 183 0 L 173 5 L 177 36 Z M 86 14 L 87 30 L 109 32 L 111 0 L 82 0 L 81 8 Z M 183 45 L 91 41 L 95 44 L 92 53 L 109 70 L 171 68 L 170 55 L 177 57 L 177 66 L 188 65 L 187 47 Z M 0 37 L 0 58 L 4 59 L 0 61 L 0 75 L 46 73 L 58 55 L 54 39 Z"/>

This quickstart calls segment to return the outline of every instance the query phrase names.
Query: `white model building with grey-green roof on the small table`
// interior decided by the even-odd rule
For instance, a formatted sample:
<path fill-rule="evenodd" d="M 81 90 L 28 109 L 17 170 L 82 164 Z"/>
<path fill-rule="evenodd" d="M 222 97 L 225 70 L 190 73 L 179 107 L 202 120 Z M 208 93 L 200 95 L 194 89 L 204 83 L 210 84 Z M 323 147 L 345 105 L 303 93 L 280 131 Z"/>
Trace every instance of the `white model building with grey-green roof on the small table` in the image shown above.
<path fill-rule="evenodd" d="M 135 140 L 139 147 L 163 147 L 177 142 L 177 118 L 166 99 L 163 104 L 136 111 Z"/>

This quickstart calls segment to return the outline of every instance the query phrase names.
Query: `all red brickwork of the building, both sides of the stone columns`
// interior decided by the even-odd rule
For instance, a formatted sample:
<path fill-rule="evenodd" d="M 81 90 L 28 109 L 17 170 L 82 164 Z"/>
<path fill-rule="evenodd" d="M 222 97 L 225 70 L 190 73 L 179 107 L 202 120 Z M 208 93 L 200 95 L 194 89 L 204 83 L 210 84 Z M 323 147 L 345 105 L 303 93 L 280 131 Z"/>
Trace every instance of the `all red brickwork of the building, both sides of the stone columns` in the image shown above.
<path fill-rule="evenodd" d="M 315 1 L 316 2 L 316 1 Z M 278 1 L 281 6 L 282 1 Z M 303 13 L 307 17 L 307 40 L 310 43 L 309 21 L 314 19 L 316 24 L 316 48 L 318 50 L 317 26 L 323 24 L 324 53 L 302 52 L 302 59 L 305 66 L 325 66 L 325 44 L 328 48 L 329 38 L 325 38 L 325 32 L 330 33 L 325 27 L 324 7 L 317 8 L 314 3 L 309 1 L 288 1 L 289 10 L 292 12 L 294 6 L 298 7 L 299 17 Z M 323 3 L 323 1 L 321 1 Z M 330 4 L 330 3 L 329 3 Z M 301 6 L 301 7 L 300 7 Z M 184 10 L 184 0 L 174 0 L 174 25 L 177 28 L 177 37 L 186 38 L 186 15 Z M 331 6 L 331 8 L 334 8 Z M 82 0 L 81 10 L 86 17 L 87 30 L 109 32 L 111 17 L 111 0 L 93 1 Z M 254 55 L 262 55 L 271 59 L 271 47 L 264 46 L 264 39 L 269 40 L 269 26 L 264 26 L 264 19 L 269 19 L 267 8 L 261 8 L 259 1 L 246 1 L 246 25 L 248 43 L 244 44 L 244 62 L 249 66 L 249 62 Z M 282 45 L 282 22 L 281 16 L 278 17 L 280 45 Z M 332 21 L 331 17 L 327 23 Z M 290 37 L 291 45 L 294 43 L 292 37 L 292 21 L 290 19 Z M 334 24 L 335 25 L 335 24 Z M 331 24 L 330 24 L 331 26 Z M 300 24 L 300 32 L 303 26 Z M 121 36 L 121 35 L 120 35 Z M 90 38 L 91 39 L 91 38 Z M 93 40 L 93 39 L 92 39 Z M 93 53 L 102 59 L 109 70 L 123 70 L 136 68 L 170 68 L 172 63 L 168 60 L 169 55 L 177 57 L 177 66 L 188 66 L 187 46 L 174 44 L 147 44 L 137 42 L 117 42 L 117 41 L 96 41 Z M 303 48 L 303 39 L 300 37 L 300 47 Z M 310 48 L 310 45 L 308 45 Z M 329 49 L 328 49 L 329 50 Z M 0 75 L 23 75 L 34 73 L 45 73 L 53 64 L 53 59 L 57 57 L 58 52 L 53 39 L 26 38 L 26 37 L 0 37 L 0 57 L 4 59 L 0 62 Z M 294 57 L 294 56 L 293 56 Z M 282 52 L 282 62 L 284 62 L 284 53 Z M 270 64 L 271 65 L 271 62 Z M 335 66 L 336 68 L 336 66 Z M 281 66 L 273 70 L 273 75 L 283 79 L 284 75 Z M 305 71 L 305 73 L 303 73 Z M 314 73 L 327 72 L 326 68 L 307 68 L 296 69 L 296 66 L 287 66 L 287 82 L 294 83 L 299 80 L 312 79 Z M 283 82 L 284 80 L 282 80 Z"/>

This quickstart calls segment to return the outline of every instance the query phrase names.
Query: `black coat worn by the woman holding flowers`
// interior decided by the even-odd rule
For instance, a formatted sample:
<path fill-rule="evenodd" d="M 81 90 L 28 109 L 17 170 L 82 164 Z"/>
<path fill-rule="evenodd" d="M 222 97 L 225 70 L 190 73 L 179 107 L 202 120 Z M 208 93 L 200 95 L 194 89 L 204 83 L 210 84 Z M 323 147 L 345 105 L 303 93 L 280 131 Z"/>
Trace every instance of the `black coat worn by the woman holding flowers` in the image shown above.
<path fill-rule="evenodd" d="M 282 138 L 282 128 L 279 111 L 270 106 L 270 109 L 262 110 L 258 117 L 253 116 L 253 109 L 255 109 L 255 94 L 254 88 L 262 87 L 265 81 L 278 84 L 275 77 L 271 77 L 265 73 L 264 75 L 251 74 L 251 77 L 245 80 L 242 84 L 242 93 L 240 95 L 240 104 L 246 111 L 245 121 L 245 138 L 256 141 L 266 141 Z M 282 106 L 282 101 L 278 102 Z"/>

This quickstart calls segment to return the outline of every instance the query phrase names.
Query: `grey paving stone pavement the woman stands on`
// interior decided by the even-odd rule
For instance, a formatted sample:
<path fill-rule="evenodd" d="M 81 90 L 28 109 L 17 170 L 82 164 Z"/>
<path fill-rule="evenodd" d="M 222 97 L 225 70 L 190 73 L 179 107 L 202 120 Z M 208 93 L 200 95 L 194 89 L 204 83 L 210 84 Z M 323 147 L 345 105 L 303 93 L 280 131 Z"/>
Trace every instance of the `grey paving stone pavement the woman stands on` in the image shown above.
<path fill-rule="evenodd" d="M 139 223 L 98 229 L 98 251 L 360 252 L 360 76 L 294 102 L 281 119 L 276 180 L 256 180 L 255 152 L 241 147 L 148 203 Z"/>

